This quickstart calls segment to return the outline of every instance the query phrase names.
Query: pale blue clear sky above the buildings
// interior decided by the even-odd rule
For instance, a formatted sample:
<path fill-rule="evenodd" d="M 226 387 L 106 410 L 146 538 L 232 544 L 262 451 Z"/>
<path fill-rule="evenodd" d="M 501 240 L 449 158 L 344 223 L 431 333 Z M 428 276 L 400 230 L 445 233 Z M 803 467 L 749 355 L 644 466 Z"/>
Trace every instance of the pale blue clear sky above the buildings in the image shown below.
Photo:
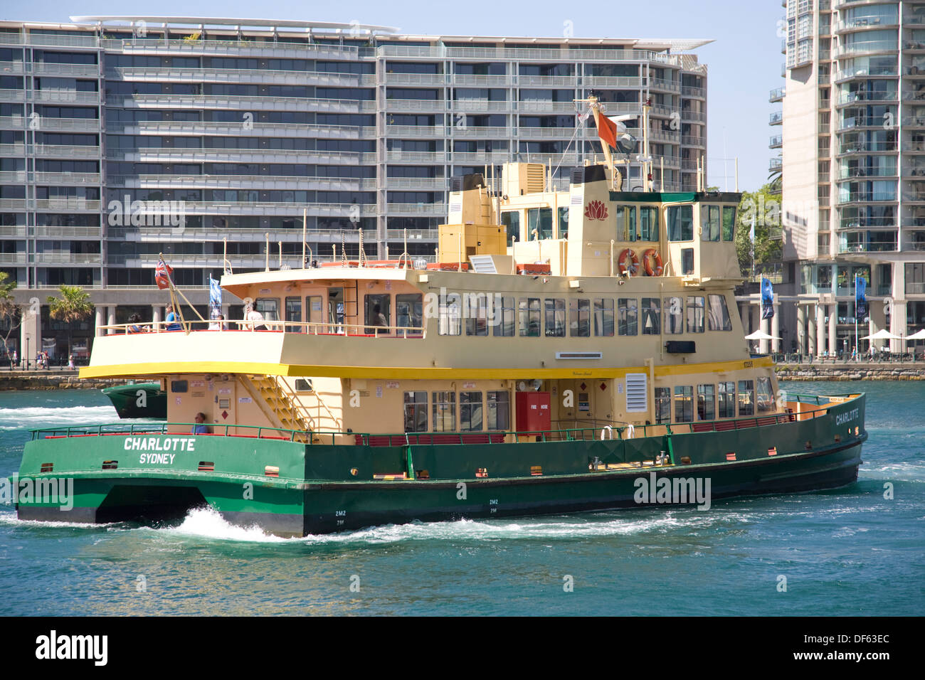
<path fill-rule="evenodd" d="M 576 38 L 713 39 L 695 50 L 709 68 L 708 184 L 754 191 L 768 178 L 776 150 L 768 148 L 768 95 L 783 86 L 777 0 L 646 0 L 636 3 L 563 3 L 535 0 L 340 0 L 312 3 L 277 0 L 31 0 L 0 7 L 0 18 L 68 22 L 71 16 L 202 16 L 236 19 L 298 19 L 392 26 L 402 33 L 559 37 L 571 22 Z"/>

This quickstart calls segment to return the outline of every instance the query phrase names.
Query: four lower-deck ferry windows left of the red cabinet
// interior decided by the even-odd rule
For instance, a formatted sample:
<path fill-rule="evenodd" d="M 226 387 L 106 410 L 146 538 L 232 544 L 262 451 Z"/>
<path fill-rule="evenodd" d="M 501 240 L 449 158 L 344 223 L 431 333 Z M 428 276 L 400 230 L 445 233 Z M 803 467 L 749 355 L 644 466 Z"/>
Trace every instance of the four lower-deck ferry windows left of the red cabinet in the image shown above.
<path fill-rule="evenodd" d="M 433 428 L 428 430 L 427 392 L 404 393 L 405 432 L 481 432 L 483 429 L 492 432 L 511 429 L 511 395 L 507 391 L 487 391 L 484 401 L 480 391 L 462 391 L 459 393 L 459 411 L 456 409 L 456 392 L 436 391 L 430 395 L 429 414 Z"/>

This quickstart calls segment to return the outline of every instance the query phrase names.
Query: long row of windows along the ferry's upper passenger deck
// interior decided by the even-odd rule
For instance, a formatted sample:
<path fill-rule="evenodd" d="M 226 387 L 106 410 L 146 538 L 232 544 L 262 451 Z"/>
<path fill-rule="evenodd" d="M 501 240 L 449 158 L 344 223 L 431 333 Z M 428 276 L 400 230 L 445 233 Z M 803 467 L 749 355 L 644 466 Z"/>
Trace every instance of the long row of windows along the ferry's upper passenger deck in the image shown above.
<path fill-rule="evenodd" d="M 574 299 L 568 301 L 566 317 L 562 298 L 519 298 L 504 295 L 445 295 L 439 304 L 440 335 L 487 336 L 488 327 L 496 337 L 564 338 L 566 324 L 572 338 L 611 337 L 614 334 L 659 335 L 662 301 L 660 298 L 617 298 L 614 316 L 613 298 Z M 516 313 L 516 314 L 515 314 Z M 733 323 L 723 295 L 688 295 L 664 298 L 664 332 L 732 330 Z M 640 330 L 641 327 L 641 330 Z M 705 328 L 706 327 L 706 328 Z M 516 333 L 515 333 L 516 330 Z"/>

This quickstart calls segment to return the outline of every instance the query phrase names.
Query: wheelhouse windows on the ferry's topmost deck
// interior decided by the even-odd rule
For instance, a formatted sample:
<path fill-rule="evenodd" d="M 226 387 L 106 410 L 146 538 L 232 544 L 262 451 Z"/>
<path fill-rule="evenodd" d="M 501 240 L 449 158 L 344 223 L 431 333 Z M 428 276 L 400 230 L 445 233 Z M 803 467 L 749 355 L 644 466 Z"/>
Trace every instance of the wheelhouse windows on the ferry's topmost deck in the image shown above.
<path fill-rule="evenodd" d="M 651 205 L 617 205 L 615 211 L 617 241 L 659 241 L 659 208 Z M 552 208 L 526 209 L 526 240 L 565 239 L 569 232 L 569 208 L 560 207 L 553 224 Z M 701 239 L 732 242 L 735 234 L 734 205 L 700 207 Z M 501 213 L 507 227 L 508 245 L 512 237 L 520 239 L 519 210 Z M 694 240 L 694 206 L 671 205 L 665 211 L 669 241 Z"/>

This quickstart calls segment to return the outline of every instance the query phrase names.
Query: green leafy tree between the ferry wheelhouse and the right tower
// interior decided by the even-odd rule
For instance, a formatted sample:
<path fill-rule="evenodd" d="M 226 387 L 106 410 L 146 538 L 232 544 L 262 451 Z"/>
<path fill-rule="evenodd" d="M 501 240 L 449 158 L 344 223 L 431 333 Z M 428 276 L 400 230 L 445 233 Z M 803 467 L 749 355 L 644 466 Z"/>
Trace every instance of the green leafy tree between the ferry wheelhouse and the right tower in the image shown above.
<path fill-rule="evenodd" d="M 755 270 L 778 263 L 783 257 L 781 241 L 781 203 L 765 184 L 757 192 L 743 192 L 735 226 L 735 252 L 739 258 L 742 276 L 752 276 L 752 221 L 755 223 Z"/>

